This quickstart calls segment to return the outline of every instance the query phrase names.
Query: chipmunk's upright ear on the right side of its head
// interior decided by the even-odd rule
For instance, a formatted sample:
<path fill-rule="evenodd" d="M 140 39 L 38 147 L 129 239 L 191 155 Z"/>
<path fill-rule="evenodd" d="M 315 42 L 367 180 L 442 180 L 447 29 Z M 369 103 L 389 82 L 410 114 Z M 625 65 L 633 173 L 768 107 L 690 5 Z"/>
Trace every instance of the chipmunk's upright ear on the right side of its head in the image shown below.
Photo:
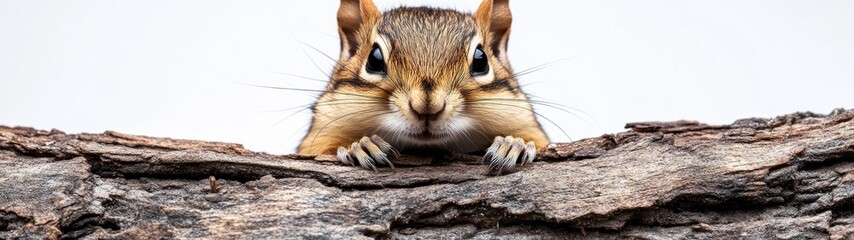
<path fill-rule="evenodd" d="M 502 62 L 507 62 L 507 42 L 513 22 L 510 1 L 483 0 L 474 13 L 474 18 L 482 29 L 486 29 L 487 36 L 484 39 L 489 43 L 492 53 Z"/>

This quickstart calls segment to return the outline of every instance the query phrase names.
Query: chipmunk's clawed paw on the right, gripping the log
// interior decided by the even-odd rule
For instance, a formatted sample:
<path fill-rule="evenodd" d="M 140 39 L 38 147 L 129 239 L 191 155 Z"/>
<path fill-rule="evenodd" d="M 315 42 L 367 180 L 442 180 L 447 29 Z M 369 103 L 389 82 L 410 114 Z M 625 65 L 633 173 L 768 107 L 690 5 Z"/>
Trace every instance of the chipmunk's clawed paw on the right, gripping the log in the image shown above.
<path fill-rule="evenodd" d="M 521 138 L 511 136 L 495 137 L 492 146 L 486 149 L 483 161 L 489 162 L 489 173 L 501 174 L 516 165 L 534 161 L 537 157 L 537 147 L 534 142 L 525 142 Z"/>

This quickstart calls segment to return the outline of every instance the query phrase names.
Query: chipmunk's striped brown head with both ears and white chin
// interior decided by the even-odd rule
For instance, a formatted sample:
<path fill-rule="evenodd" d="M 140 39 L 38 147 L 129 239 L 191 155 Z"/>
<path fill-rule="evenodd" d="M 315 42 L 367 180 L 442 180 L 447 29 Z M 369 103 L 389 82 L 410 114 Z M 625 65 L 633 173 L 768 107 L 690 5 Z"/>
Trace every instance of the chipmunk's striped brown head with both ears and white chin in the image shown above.
<path fill-rule="evenodd" d="M 507 59 L 511 20 L 508 0 L 485 0 L 474 14 L 424 7 L 380 13 L 371 0 L 342 0 L 341 53 L 328 90 L 382 99 L 362 107 L 390 110 L 376 116 L 376 131 L 391 141 L 438 145 L 478 133 L 491 141 L 483 129 L 531 115 L 513 108 L 530 105 Z M 477 104 L 491 98 L 522 101 Z"/>

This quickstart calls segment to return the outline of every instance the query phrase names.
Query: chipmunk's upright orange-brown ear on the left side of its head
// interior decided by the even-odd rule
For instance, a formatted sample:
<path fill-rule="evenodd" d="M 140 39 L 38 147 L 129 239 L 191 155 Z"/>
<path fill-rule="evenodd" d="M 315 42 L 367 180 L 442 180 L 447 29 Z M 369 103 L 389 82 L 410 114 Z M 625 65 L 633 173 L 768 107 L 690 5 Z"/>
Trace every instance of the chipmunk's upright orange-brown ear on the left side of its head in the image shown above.
<path fill-rule="evenodd" d="M 371 0 L 341 0 L 341 6 L 338 7 L 341 59 L 356 54 L 362 42 L 369 38 L 371 27 L 381 15 Z"/>

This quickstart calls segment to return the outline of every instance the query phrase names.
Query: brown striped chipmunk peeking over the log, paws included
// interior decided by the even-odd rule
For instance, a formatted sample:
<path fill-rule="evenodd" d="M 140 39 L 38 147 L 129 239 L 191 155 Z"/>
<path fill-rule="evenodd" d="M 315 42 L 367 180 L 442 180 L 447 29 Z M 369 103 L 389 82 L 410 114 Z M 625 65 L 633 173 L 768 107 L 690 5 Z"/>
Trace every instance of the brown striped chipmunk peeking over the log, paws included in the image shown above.
<path fill-rule="evenodd" d="M 394 167 L 398 150 L 484 151 L 490 172 L 530 163 L 548 137 L 507 58 L 509 0 L 474 14 L 341 0 L 341 52 L 300 154 Z"/>

